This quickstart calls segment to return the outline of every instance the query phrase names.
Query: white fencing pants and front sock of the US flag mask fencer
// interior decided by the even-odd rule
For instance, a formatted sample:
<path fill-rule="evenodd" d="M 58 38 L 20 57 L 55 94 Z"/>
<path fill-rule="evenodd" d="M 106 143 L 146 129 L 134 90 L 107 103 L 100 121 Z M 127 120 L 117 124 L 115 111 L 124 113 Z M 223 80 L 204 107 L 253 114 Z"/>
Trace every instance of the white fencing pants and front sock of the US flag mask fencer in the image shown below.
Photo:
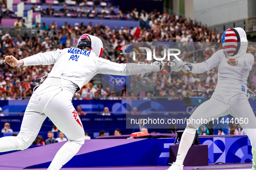
<path fill-rule="evenodd" d="M 198 129 L 202 122 L 198 121 L 198 123 L 193 120 L 212 120 L 212 118 L 216 119 L 220 116 L 225 116 L 227 114 L 231 114 L 234 118 L 245 120 L 247 118 L 248 123 L 240 123 L 240 126 L 244 129 L 246 134 L 248 135 L 251 145 L 253 148 L 256 148 L 256 117 L 253 113 L 253 110 L 249 104 L 248 99 L 245 94 L 237 94 L 231 97 L 226 104 L 222 95 L 219 92 L 215 91 L 212 95 L 211 99 L 205 101 L 201 104 L 190 116 L 189 120 L 191 123 L 187 125 L 185 132 L 189 131 L 192 127 L 194 129 Z M 226 120 L 224 120 L 225 122 Z M 199 123 L 200 122 L 200 123 Z M 219 120 L 220 122 L 220 120 Z M 188 127 L 189 126 L 189 127 Z M 191 131 L 191 130 L 190 130 Z M 185 159 L 185 155 L 188 152 L 188 149 L 191 147 L 192 141 L 194 140 L 194 135 L 190 134 L 189 138 L 185 135 L 188 133 L 183 133 L 181 140 L 186 139 L 190 141 L 182 142 L 179 145 L 178 153 L 179 157 L 177 157 L 176 162 L 182 165 Z M 184 143 L 184 145 L 182 145 Z M 189 145 L 189 146 L 188 146 Z"/>

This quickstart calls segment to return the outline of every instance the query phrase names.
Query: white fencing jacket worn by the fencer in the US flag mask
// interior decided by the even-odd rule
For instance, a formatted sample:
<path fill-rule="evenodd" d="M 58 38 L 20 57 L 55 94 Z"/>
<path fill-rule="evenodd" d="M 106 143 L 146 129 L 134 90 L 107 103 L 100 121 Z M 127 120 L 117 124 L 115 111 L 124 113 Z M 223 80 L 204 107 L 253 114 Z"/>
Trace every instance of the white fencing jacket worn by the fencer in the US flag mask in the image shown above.
<path fill-rule="evenodd" d="M 246 53 L 237 58 L 237 66 L 230 66 L 227 63 L 227 53 L 225 50 L 218 50 L 208 60 L 202 63 L 192 63 L 193 73 L 206 72 L 218 66 L 218 81 L 215 91 L 218 91 L 226 102 L 236 94 L 247 94 L 247 78 L 252 69 L 254 57 Z"/>

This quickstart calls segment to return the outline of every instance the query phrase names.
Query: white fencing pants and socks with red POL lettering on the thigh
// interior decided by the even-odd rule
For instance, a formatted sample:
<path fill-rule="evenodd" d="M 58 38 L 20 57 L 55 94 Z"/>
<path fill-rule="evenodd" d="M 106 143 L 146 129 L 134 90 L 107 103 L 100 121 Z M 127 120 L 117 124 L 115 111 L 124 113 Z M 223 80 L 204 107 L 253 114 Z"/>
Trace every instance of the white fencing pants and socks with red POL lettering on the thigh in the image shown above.
<path fill-rule="evenodd" d="M 70 82 L 58 78 L 46 80 L 46 83 L 40 85 L 32 94 L 18 136 L 0 138 L 0 152 L 28 148 L 36 139 L 42 123 L 48 116 L 68 138 L 68 142 L 60 148 L 48 168 L 48 170 L 59 170 L 84 144 L 84 129 L 71 102 L 74 88 L 52 86 L 52 84 L 70 84 Z"/>

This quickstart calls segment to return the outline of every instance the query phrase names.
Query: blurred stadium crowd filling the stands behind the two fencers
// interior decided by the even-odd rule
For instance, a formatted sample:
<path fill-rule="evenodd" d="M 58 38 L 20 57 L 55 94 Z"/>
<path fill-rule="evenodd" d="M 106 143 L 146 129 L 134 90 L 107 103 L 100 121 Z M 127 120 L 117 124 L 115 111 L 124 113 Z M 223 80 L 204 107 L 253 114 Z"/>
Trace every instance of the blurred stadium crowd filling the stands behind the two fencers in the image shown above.
<path fill-rule="evenodd" d="M 5 8 L 5 6 L 2 5 L 2 9 L 3 8 Z M 42 13 L 44 13 L 44 11 L 45 13 L 51 13 L 51 6 L 49 6 L 49 8 L 50 9 L 44 9 Z M 65 12 L 65 4 L 63 8 L 63 12 Z M 86 8 L 87 6 L 84 6 L 83 10 L 87 10 Z M 78 9 L 74 10 L 79 12 Z M 90 12 L 93 13 L 93 11 Z M 103 13 L 106 12 L 106 10 L 103 11 Z M 108 11 L 108 13 L 111 13 L 111 11 Z M 151 45 L 156 41 L 180 42 L 185 49 L 183 54 L 201 49 L 206 45 L 212 46 L 211 44 L 215 43 L 215 47 L 180 57 L 184 62 L 190 63 L 203 62 L 211 57 L 215 51 L 222 48 L 220 43 L 222 32 L 216 32 L 215 29 L 211 30 L 204 27 L 204 25 L 199 25 L 198 22 L 194 24 L 193 20 L 188 21 L 188 19 L 184 19 L 181 16 L 169 15 L 166 10 L 164 13 L 160 13 L 156 10 L 150 13 L 142 10 L 141 13 L 139 13 L 137 9 L 134 8 L 132 11 L 127 12 L 127 14 L 120 12 L 120 15 L 121 14 L 123 16 L 125 15 L 127 18 L 139 19 L 140 28 L 124 26 L 118 29 L 117 27 L 110 28 L 102 23 L 98 25 L 92 22 L 90 22 L 89 25 L 84 25 L 84 23 L 71 25 L 65 22 L 64 25 L 60 26 L 54 21 L 49 25 L 36 23 L 34 25 L 37 33 L 35 37 L 29 37 L 28 35 L 11 37 L 8 32 L 1 32 L 0 63 L 2 63 L 6 55 L 13 55 L 20 60 L 40 52 L 71 47 L 73 40 L 83 34 L 98 36 L 112 44 L 114 53 L 109 53 L 107 49 L 104 48 L 102 57 L 117 63 L 133 62 L 132 57 L 120 54 L 123 52 L 122 47 L 124 47 L 127 42 L 130 42 L 130 44 L 147 42 Z M 134 34 L 134 29 L 136 29 L 137 36 Z M 156 49 L 156 54 L 161 56 L 162 51 L 163 47 L 159 47 Z M 255 56 L 255 54 L 253 55 Z M 146 59 L 145 56 L 142 56 L 137 60 L 144 62 Z M 252 81 L 253 74 L 256 70 L 255 66 L 256 64 L 253 65 L 248 79 L 248 87 L 253 91 L 255 91 Z M 0 100 L 29 99 L 33 88 L 38 84 L 23 81 L 45 76 L 51 69 L 52 66 L 10 67 L 7 64 L 0 65 Z M 133 76 L 133 79 L 139 80 L 145 86 L 152 89 L 151 91 L 146 91 L 146 97 L 143 97 L 144 100 L 152 100 L 152 97 L 158 97 L 158 99 L 182 100 L 184 97 L 201 95 L 210 98 L 217 84 L 217 73 L 217 67 L 202 74 L 192 74 L 182 71 L 174 72 L 171 70 L 170 66 L 165 65 L 161 72 L 136 75 Z M 13 82 L 23 83 L 6 85 Z M 110 91 L 108 87 L 103 87 L 101 84 L 97 85 L 95 81 L 91 81 L 85 85 L 79 93 L 75 94 L 74 99 L 119 100 L 125 99 L 126 97 L 134 100 L 142 99 L 142 97 L 134 94 L 132 91 L 126 93 L 125 89 L 123 89 L 121 95 L 121 97 L 116 97 L 115 91 Z M 252 98 L 252 100 L 253 99 L 254 98 Z"/>

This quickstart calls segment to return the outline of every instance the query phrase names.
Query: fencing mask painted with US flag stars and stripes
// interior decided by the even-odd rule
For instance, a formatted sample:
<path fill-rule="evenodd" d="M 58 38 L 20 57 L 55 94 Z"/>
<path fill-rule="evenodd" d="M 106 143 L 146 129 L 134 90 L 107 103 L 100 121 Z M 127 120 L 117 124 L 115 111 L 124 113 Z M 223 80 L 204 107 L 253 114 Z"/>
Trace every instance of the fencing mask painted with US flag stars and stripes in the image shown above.
<path fill-rule="evenodd" d="M 243 28 L 228 28 L 221 38 L 227 57 L 238 58 L 246 54 L 248 41 Z"/>

